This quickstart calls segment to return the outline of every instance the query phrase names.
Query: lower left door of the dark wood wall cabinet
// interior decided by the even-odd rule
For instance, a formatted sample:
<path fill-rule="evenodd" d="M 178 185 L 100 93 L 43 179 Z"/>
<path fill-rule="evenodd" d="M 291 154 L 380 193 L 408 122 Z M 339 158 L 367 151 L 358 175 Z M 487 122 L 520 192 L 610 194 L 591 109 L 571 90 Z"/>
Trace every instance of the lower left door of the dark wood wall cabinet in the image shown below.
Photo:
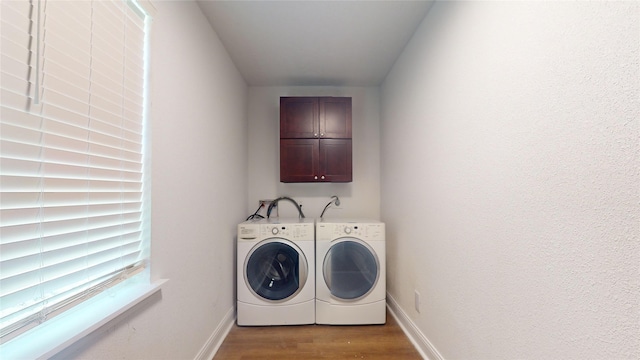
<path fill-rule="evenodd" d="M 318 141 L 317 139 L 280 140 L 281 182 L 318 181 Z"/>

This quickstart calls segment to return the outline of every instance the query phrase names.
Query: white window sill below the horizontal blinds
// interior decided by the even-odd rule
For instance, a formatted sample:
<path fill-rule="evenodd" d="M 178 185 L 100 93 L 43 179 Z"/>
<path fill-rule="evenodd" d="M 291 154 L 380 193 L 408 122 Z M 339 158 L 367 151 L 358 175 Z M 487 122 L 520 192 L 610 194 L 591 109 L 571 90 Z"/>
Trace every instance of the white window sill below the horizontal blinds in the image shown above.
<path fill-rule="evenodd" d="M 134 280 L 132 278 L 131 280 Z M 126 281 L 36 326 L 0 346 L 0 358 L 47 359 L 160 291 L 152 284 Z"/>

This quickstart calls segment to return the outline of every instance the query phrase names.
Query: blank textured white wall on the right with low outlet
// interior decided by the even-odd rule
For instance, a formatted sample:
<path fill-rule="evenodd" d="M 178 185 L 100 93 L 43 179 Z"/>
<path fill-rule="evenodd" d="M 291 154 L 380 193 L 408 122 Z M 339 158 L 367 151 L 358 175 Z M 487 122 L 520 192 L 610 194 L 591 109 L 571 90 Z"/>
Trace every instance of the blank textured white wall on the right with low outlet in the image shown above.
<path fill-rule="evenodd" d="M 388 290 L 443 358 L 640 358 L 639 6 L 437 2 L 385 80 Z"/>

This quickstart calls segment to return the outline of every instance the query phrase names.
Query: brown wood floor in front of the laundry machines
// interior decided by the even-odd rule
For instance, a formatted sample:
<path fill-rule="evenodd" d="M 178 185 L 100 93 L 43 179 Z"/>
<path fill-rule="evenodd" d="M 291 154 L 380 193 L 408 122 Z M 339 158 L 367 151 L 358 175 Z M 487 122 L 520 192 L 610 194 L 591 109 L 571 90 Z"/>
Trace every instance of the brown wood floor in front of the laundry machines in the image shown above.
<path fill-rule="evenodd" d="M 385 325 L 234 325 L 214 360 L 422 359 L 387 311 Z"/>

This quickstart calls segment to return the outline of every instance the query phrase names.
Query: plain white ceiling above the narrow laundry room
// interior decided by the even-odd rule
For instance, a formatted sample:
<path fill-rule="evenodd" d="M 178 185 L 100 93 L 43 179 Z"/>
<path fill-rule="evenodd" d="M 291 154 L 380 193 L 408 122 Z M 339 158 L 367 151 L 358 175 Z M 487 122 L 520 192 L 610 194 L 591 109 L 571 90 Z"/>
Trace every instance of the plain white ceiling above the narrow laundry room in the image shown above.
<path fill-rule="evenodd" d="M 250 86 L 377 86 L 432 1 L 198 4 Z"/>

